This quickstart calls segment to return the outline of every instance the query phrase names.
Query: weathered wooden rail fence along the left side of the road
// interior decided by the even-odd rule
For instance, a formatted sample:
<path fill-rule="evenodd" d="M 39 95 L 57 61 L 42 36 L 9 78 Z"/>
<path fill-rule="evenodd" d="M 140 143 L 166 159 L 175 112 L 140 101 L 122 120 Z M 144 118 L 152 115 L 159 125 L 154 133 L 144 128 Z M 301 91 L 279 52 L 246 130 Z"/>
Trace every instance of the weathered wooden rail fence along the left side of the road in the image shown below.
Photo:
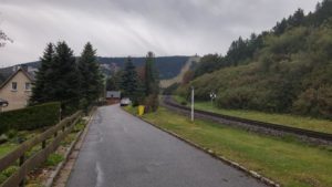
<path fill-rule="evenodd" d="M 0 172 L 15 164 L 19 164 L 19 169 L 0 186 L 24 186 L 24 178 L 29 174 L 29 172 L 46 160 L 48 156 L 59 147 L 64 137 L 72 132 L 81 115 L 81 111 L 76 112 L 72 116 L 62 120 L 59 124 L 50 127 L 48 131 L 38 135 L 37 137 L 22 143 L 13 152 L 2 157 L 0 159 Z M 27 158 L 27 152 L 31 150 L 34 146 L 40 144 L 42 148 Z"/>

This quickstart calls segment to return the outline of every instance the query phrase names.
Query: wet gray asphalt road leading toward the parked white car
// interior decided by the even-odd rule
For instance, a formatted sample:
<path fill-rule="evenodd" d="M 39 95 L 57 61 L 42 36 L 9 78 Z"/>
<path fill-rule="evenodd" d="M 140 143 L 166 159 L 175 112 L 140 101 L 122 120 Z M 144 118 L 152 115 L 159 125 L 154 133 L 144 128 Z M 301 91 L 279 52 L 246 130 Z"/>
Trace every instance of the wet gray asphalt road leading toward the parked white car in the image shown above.
<path fill-rule="evenodd" d="M 113 105 L 97 110 L 68 186 L 264 185 Z"/>

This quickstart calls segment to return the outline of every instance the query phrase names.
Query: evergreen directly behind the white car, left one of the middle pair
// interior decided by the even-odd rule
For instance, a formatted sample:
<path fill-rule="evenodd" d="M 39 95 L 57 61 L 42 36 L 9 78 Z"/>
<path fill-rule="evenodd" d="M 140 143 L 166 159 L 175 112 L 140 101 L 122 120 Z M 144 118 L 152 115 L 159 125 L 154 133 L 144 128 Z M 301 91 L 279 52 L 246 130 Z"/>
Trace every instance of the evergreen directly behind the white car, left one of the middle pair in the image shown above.
<path fill-rule="evenodd" d="M 132 58 L 128 56 L 127 61 L 125 62 L 125 67 L 122 74 L 122 84 L 121 84 L 121 89 L 123 91 L 122 95 L 127 96 L 134 101 L 136 96 L 137 87 L 138 87 L 137 72 L 132 62 Z"/>

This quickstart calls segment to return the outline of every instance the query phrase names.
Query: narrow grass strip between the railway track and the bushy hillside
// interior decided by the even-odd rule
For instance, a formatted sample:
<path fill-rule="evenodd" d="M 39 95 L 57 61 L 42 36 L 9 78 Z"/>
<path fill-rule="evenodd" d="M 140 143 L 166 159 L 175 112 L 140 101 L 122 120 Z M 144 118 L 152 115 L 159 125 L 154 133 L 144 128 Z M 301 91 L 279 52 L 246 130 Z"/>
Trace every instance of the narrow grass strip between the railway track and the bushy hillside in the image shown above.
<path fill-rule="evenodd" d="M 178 103 L 184 101 L 184 98 L 179 96 L 174 96 L 174 98 Z M 270 114 L 257 111 L 224 110 L 212 106 L 210 102 L 195 102 L 195 108 L 241 118 L 281 124 L 323 133 L 332 133 L 332 121 L 328 120 L 295 116 L 290 114 Z"/>

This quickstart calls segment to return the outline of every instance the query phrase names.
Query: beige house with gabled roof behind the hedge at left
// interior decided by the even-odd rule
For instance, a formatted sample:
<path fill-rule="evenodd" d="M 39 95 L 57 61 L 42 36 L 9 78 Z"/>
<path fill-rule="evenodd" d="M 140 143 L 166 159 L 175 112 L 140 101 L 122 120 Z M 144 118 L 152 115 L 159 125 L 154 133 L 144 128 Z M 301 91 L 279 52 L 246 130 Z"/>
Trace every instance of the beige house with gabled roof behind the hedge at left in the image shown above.
<path fill-rule="evenodd" d="M 0 85 L 0 98 L 8 102 L 8 106 L 2 111 L 12 111 L 25 107 L 32 94 L 32 82 L 34 77 L 22 67 L 17 67 Z"/>

